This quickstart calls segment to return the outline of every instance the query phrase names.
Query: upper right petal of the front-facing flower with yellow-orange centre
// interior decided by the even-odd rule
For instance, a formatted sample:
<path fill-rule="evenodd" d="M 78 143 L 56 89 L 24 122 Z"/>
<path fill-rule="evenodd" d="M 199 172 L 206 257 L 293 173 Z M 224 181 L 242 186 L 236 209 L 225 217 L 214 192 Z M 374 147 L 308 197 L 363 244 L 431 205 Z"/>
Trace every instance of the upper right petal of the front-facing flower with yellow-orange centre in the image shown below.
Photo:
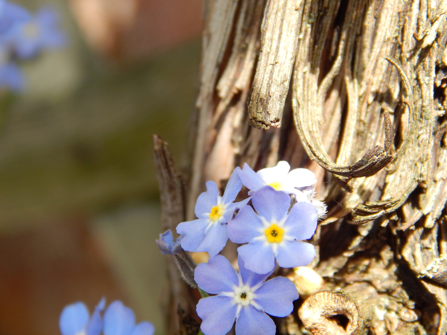
<path fill-rule="evenodd" d="M 287 235 L 298 241 L 310 239 L 315 233 L 317 214 L 318 210 L 311 203 L 297 202 L 284 222 Z"/>

